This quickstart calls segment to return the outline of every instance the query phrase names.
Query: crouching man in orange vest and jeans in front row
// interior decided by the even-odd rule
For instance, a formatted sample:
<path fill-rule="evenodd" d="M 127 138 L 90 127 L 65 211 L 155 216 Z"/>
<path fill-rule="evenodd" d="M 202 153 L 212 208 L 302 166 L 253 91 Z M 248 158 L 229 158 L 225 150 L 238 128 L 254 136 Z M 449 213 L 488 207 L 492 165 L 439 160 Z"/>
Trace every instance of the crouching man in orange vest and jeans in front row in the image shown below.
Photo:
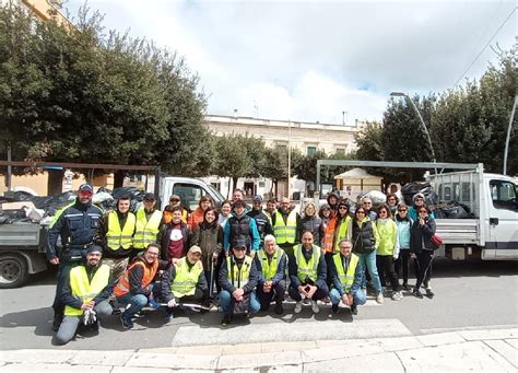
<path fill-rule="evenodd" d="M 117 303 L 127 305 L 125 312 L 120 314 L 125 329 L 133 327 L 134 315 L 153 299 L 153 281 L 156 272 L 169 265 L 168 261 L 160 260 L 160 252 L 158 244 L 149 244 L 143 255 L 137 256 L 114 287 Z"/>

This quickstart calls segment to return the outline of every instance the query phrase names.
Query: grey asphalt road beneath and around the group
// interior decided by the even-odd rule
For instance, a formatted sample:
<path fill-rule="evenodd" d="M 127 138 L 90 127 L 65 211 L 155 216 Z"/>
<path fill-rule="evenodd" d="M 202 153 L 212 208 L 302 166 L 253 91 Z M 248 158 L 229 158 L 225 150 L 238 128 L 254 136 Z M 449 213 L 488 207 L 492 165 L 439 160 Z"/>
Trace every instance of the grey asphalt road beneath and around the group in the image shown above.
<path fill-rule="evenodd" d="M 410 280 L 413 283 L 413 280 Z M 459 330 L 484 326 L 518 325 L 518 263 L 485 261 L 459 263 L 442 260 L 434 263 L 432 285 L 436 296 L 433 300 L 419 300 L 405 294 L 400 302 L 385 300 L 384 305 L 369 301 L 358 307 L 354 320 L 399 320 L 413 335 Z M 179 328 L 197 326 L 200 333 L 207 328 L 219 329 L 221 315 L 216 312 L 186 316 L 176 314 L 172 325 L 164 326 L 161 312 L 150 312 L 148 317 L 137 320 L 136 327 L 123 331 L 118 317 L 104 322 L 99 335 L 85 333 L 63 347 L 55 347 L 51 330 L 54 298 L 54 273 L 36 275 L 30 284 L 21 289 L 0 290 L 0 349 L 60 348 L 122 350 L 136 348 L 170 347 Z M 351 323 L 350 313 L 342 310 L 338 316 L 330 315 L 330 306 L 321 306 L 318 315 L 305 308 L 299 315 L 292 313 L 293 304 L 286 306 L 281 317 L 270 313 L 260 313 L 250 319 L 236 319 L 231 325 L 237 330 L 240 325 L 257 325 L 260 333 L 279 323 L 297 325 L 311 323 L 326 328 L 326 319 L 341 319 Z M 263 326 L 263 328 L 262 328 Z M 190 330 L 189 328 L 185 328 Z M 247 336 L 244 336 L 247 341 Z M 252 341 L 252 340 L 250 340 Z M 279 340 L 281 341 L 281 340 Z M 208 341 L 210 343 L 210 341 Z"/>

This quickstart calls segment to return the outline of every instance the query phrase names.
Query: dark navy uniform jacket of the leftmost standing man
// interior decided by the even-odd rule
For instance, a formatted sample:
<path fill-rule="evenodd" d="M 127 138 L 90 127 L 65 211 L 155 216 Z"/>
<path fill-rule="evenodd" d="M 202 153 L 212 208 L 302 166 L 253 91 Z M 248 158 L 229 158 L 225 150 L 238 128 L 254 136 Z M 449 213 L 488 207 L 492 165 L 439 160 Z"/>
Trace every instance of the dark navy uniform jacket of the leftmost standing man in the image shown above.
<path fill-rule="evenodd" d="M 83 205 L 75 199 L 72 205 L 57 213 L 59 217 L 47 235 L 47 259 L 60 256 L 56 247 L 59 236 L 61 245 L 70 250 L 71 256 L 84 256 L 86 246 L 93 243 L 103 211 L 92 203 Z"/>

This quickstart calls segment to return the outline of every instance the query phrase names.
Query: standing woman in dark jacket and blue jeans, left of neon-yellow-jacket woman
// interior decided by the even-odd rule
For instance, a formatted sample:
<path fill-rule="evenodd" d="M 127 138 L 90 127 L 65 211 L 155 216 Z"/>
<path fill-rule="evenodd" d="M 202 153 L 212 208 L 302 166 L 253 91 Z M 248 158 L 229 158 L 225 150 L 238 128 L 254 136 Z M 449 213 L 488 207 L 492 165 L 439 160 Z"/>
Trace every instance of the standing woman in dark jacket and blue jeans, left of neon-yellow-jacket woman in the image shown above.
<path fill-rule="evenodd" d="M 376 224 L 366 215 L 363 205 L 356 206 L 353 220 L 353 253 L 360 258 L 362 270 L 362 288 L 366 292 L 365 271 L 370 275 L 376 291 L 376 302 L 384 303 L 384 293 L 376 268 L 376 248 L 379 245 L 378 231 Z"/>

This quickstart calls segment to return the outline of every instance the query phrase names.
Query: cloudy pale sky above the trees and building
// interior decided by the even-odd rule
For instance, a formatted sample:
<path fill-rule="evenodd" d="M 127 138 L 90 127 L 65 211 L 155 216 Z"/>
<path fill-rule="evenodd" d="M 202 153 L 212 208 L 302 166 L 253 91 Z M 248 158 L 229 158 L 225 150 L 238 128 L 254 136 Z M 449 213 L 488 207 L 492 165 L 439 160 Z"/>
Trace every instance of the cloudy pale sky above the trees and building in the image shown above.
<path fill-rule="evenodd" d="M 82 3 L 66 7 L 73 15 Z M 518 14 L 508 0 L 89 5 L 105 14 L 107 28 L 129 30 L 185 56 L 209 96 L 209 114 L 237 109 L 239 116 L 337 125 L 343 112 L 348 125 L 380 120 L 392 91 L 427 94 L 476 79 L 497 61 L 493 49 L 516 43 Z"/>

